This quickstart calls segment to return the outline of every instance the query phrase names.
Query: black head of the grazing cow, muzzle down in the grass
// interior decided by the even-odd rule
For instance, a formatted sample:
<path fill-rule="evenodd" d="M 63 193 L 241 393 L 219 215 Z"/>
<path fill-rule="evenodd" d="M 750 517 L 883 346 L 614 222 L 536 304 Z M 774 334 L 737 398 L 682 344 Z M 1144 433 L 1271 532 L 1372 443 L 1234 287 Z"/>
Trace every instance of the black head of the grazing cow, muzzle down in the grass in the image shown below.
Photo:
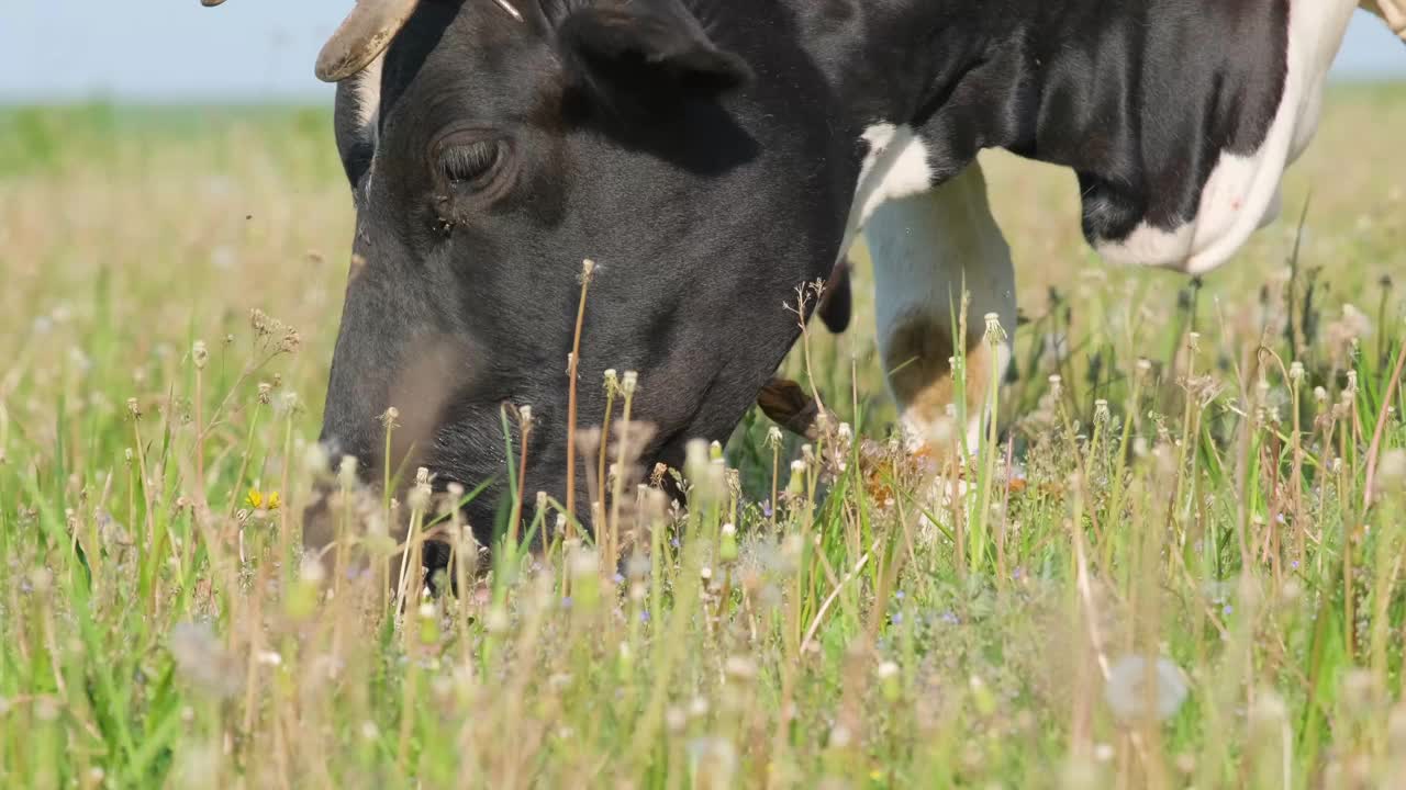
<path fill-rule="evenodd" d="M 470 506 L 482 537 L 519 453 L 502 408 L 530 405 L 527 498 L 561 500 L 585 259 L 579 425 L 602 422 L 606 368 L 637 370 L 645 461 L 725 439 L 797 336 L 783 302 L 838 252 L 846 201 L 815 164 L 858 169 L 827 148 L 824 80 L 772 14 L 735 30 L 681 0 L 357 4 L 318 63 L 340 83 L 357 212 L 333 457 L 380 479 L 395 406 L 395 468 L 498 481 Z"/>

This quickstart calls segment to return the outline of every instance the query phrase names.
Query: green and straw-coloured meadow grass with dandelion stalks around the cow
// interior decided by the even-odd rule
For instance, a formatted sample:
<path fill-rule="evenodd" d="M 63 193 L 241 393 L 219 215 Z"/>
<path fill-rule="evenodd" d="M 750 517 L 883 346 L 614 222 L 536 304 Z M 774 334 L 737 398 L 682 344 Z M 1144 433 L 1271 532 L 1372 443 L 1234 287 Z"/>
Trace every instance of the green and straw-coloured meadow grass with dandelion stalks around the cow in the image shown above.
<path fill-rule="evenodd" d="M 423 492 L 333 482 L 335 572 L 295 548 L 353 219 L 328 112 L 3 111 L 0 787 L 1399 786 L 1403 139 L 1406 87 L 1339 89 L 1284 219 L 1195 284 L 990 156 L 1025 322 L 963 498 L 889 450 L 860 260 L 852 330 L 786 364 L 853 441 L 751 415 L 692 512 L 630 491 L 602 545 L 416 602 L 363 561 L 457 534 Z"/>

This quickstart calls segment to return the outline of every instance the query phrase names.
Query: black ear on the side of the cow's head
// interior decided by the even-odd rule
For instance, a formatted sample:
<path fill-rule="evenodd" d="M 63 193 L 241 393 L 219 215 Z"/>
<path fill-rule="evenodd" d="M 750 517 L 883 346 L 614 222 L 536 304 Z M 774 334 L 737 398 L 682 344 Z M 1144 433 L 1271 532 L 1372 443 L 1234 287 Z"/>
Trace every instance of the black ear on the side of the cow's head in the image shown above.
<path fill-rule="evenodd" d="M 650 98 L 716 96 L 752 77 L 679 0 L 606 0 L 558 28 L 562 55 L 596 90 Z"/>

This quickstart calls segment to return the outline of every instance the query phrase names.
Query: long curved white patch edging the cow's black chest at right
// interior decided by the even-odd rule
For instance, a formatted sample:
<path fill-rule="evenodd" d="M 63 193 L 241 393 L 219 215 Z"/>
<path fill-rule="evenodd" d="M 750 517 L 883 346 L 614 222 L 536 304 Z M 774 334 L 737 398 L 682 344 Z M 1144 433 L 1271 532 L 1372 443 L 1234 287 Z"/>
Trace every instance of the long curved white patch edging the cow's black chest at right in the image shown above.
<path fill-rule="evenodd" d="M 1095 242 L 1108 260 L 1209 271 L 1233 256 L 1279 211 L 1284 170 L 1308 148 L 1317 129 L 1323 83 L 1343 44 L 1357 0 L 1291 0 L 1288 73 L 1284 97 L 1260 150 L 1222 153 L 1201 193 L 1197 216 L 1163 231 L 1142 224 L 1118 242 Z"/>

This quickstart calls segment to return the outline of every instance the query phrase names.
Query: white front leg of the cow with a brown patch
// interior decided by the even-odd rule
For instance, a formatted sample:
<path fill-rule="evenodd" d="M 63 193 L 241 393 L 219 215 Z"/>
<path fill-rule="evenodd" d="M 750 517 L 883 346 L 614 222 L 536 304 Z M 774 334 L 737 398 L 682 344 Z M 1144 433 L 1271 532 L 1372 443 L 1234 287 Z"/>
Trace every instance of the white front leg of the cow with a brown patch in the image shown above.
<path fill-rule="evenodd" d="M 898 402 L 910 448 L 949 455 L 957 440 L 974 453 L 988 409 L 993 375 L 1002 375 L 1011 344 L 984 339 L 994 313 L 1015 329 L 1011 249 L 991 215 L 981 166 L 973 162 L 932 191 L 882 205 L 866 226 L 877 288 L 879 350 Z M 965 426 L 952 423 L 957 402 L 952 358 L 963 290 L 966 306 Z"/>

